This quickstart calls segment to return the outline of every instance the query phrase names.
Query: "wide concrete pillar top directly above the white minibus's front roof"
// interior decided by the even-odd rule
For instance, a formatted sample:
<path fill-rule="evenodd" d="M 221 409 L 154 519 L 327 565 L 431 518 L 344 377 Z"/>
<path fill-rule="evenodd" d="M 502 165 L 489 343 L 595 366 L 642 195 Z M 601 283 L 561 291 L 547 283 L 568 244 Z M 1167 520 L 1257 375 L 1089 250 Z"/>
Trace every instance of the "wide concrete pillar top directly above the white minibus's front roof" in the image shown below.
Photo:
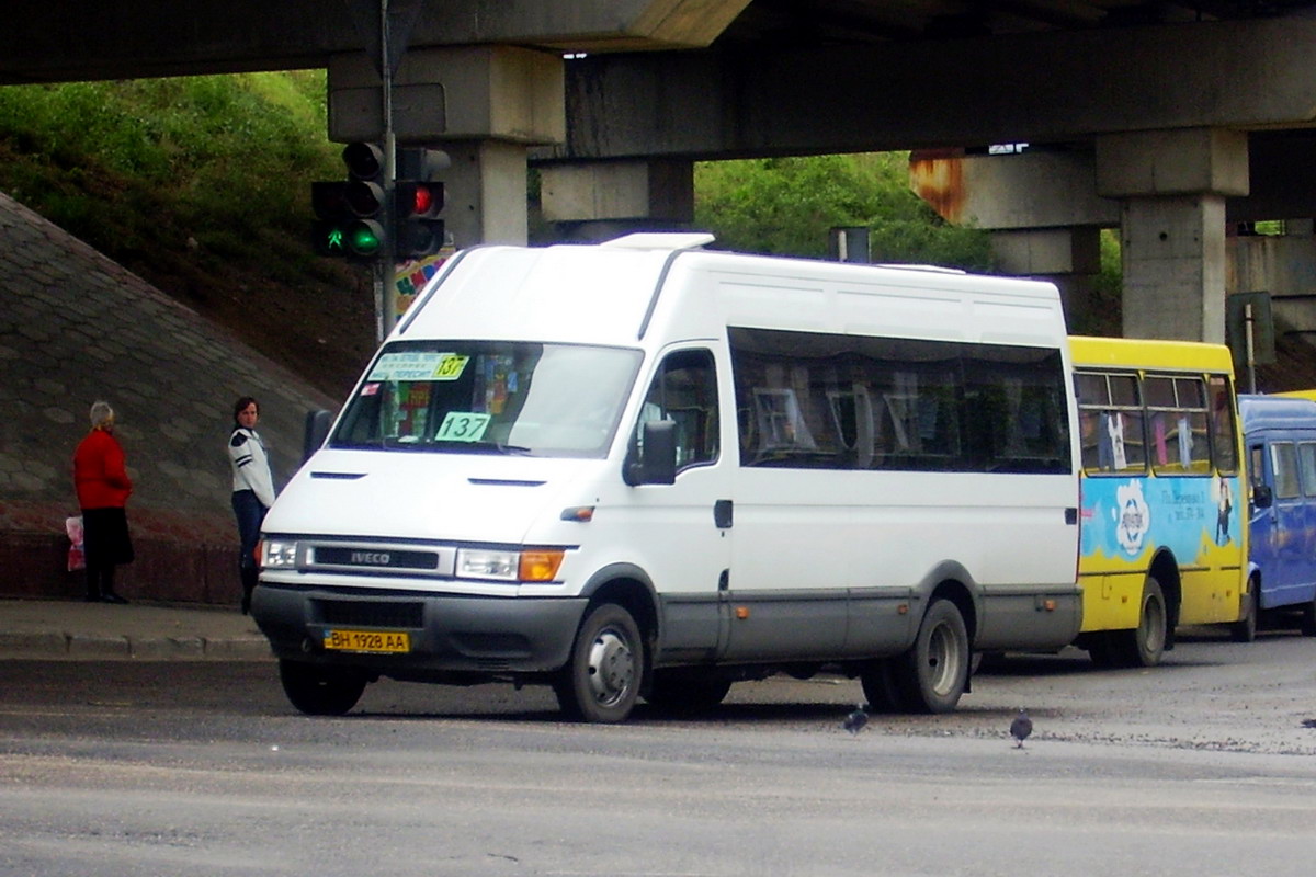
<path fill-rule="evenodd" d="M 658 159 L 547 164 L 540 168 L 544 220 L 562 239 L 603 241 L 629 231 L 688 227 L 695 166 Z"/>

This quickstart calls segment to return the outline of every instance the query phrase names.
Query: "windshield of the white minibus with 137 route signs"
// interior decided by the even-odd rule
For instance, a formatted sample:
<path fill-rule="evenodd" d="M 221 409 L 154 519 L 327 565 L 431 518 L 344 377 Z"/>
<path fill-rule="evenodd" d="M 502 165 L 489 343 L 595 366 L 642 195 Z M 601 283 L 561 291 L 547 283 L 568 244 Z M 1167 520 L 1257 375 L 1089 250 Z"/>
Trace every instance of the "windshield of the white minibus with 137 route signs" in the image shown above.
<path fill-rule="evenodd" d="M 336 448 L 607 455 L 641 352 L 533 342 L 384 347 L 329 440 Z"/>

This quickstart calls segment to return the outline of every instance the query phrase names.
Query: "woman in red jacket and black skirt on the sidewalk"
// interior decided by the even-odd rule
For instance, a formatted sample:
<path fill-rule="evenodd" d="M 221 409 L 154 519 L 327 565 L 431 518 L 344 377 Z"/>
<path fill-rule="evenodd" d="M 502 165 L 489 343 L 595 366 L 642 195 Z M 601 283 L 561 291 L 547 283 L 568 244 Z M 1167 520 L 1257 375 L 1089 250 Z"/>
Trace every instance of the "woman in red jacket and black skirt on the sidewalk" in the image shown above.
<path fill-rule="evenodd" d="M 124 448 L 114 438 L 114 409 L 107 402 L 92 402 L 91 433 L 74 452 L 74 485 L 83 513 L 87 600 L 126 604 L 114 593 L 114 567 L 133 560 L 124 510 L 133 483 L 124 468 Z"/>

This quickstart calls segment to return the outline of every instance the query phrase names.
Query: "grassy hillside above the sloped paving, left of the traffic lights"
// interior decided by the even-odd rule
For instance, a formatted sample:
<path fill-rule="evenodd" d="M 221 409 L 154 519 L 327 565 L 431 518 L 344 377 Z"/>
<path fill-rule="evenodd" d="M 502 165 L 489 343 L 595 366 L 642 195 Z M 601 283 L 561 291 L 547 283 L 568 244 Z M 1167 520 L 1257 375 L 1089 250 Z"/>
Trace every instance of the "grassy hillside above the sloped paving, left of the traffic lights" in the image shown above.
<path fill-rule="evenodd" d="M 374 301 L 308 246 L 325 130 L 322 72 L 4 87 L 0 191 L 342 396 Z"/>

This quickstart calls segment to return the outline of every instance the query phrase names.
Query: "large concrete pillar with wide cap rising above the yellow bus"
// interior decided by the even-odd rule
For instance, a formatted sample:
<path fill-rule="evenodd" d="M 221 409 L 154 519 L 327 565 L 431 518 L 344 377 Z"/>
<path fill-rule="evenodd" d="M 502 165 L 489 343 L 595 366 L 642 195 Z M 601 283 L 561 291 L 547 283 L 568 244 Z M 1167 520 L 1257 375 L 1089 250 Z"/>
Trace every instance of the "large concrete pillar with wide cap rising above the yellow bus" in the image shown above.
<path fill-rule="evenodd" d="M 1096 187 L 1121 204 L 1124 335 L 1224 343 L 1224 199 L 1248 193 L 1246 134 L 1099 137 Z"/>

